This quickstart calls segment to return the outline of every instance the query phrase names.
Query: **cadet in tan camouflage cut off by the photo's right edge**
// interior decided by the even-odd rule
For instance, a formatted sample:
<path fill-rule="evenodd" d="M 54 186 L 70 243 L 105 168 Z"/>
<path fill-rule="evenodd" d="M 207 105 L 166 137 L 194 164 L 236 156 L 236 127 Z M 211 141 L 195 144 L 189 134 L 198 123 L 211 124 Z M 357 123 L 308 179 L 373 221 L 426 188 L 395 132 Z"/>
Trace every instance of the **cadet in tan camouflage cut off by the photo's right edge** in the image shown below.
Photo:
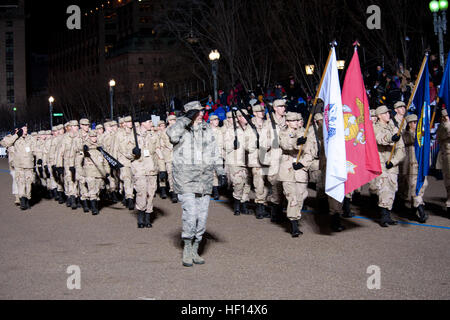
<path fill-rule="evenodd" d="M 447 190 L 447 215 L 450 217 L 450 121 L 447 110 L 442 110 L 441 123 L 437 130 L 442 160 L 442 174 L 444 175 L 445 189 Z"/>

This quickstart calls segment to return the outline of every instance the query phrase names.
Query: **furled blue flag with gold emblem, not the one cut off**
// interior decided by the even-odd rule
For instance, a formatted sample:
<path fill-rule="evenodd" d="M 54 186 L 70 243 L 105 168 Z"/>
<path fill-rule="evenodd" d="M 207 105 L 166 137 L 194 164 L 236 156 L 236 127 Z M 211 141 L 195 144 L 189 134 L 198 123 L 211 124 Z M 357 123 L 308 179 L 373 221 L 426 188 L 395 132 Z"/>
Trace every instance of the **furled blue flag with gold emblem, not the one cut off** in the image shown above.
<path fill-rule="evenodd" d="M 420 81 L 417 84 L 417 91 L 413 100 L 416 107 L 417 128 L 415 151 L 416 159 L 419 165 L 416 183 L 416 195 L 419 194 L 420 189 L 425 182 L 425 177 L 428 175 L 430 168 L 430 75 L 428 71 L 428 58 L 425 63 Z"/>

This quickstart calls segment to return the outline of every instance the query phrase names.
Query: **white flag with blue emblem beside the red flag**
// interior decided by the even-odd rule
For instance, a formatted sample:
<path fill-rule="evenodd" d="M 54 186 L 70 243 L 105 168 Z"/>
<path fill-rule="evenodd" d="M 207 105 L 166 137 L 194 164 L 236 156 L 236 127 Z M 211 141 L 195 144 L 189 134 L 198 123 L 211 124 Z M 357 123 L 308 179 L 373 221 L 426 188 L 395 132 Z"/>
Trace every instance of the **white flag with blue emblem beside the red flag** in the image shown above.
<path fill-rule="evenodd" d="M 319 93 L 319 98 L 324 102 L 323 140 L 327 157 L 325 193 L 342 202 L 345 197 L 345 181 L 347 181 L 344 114 L 336 52 L 334 48 L 331 50 L 331 57 Z"/>

